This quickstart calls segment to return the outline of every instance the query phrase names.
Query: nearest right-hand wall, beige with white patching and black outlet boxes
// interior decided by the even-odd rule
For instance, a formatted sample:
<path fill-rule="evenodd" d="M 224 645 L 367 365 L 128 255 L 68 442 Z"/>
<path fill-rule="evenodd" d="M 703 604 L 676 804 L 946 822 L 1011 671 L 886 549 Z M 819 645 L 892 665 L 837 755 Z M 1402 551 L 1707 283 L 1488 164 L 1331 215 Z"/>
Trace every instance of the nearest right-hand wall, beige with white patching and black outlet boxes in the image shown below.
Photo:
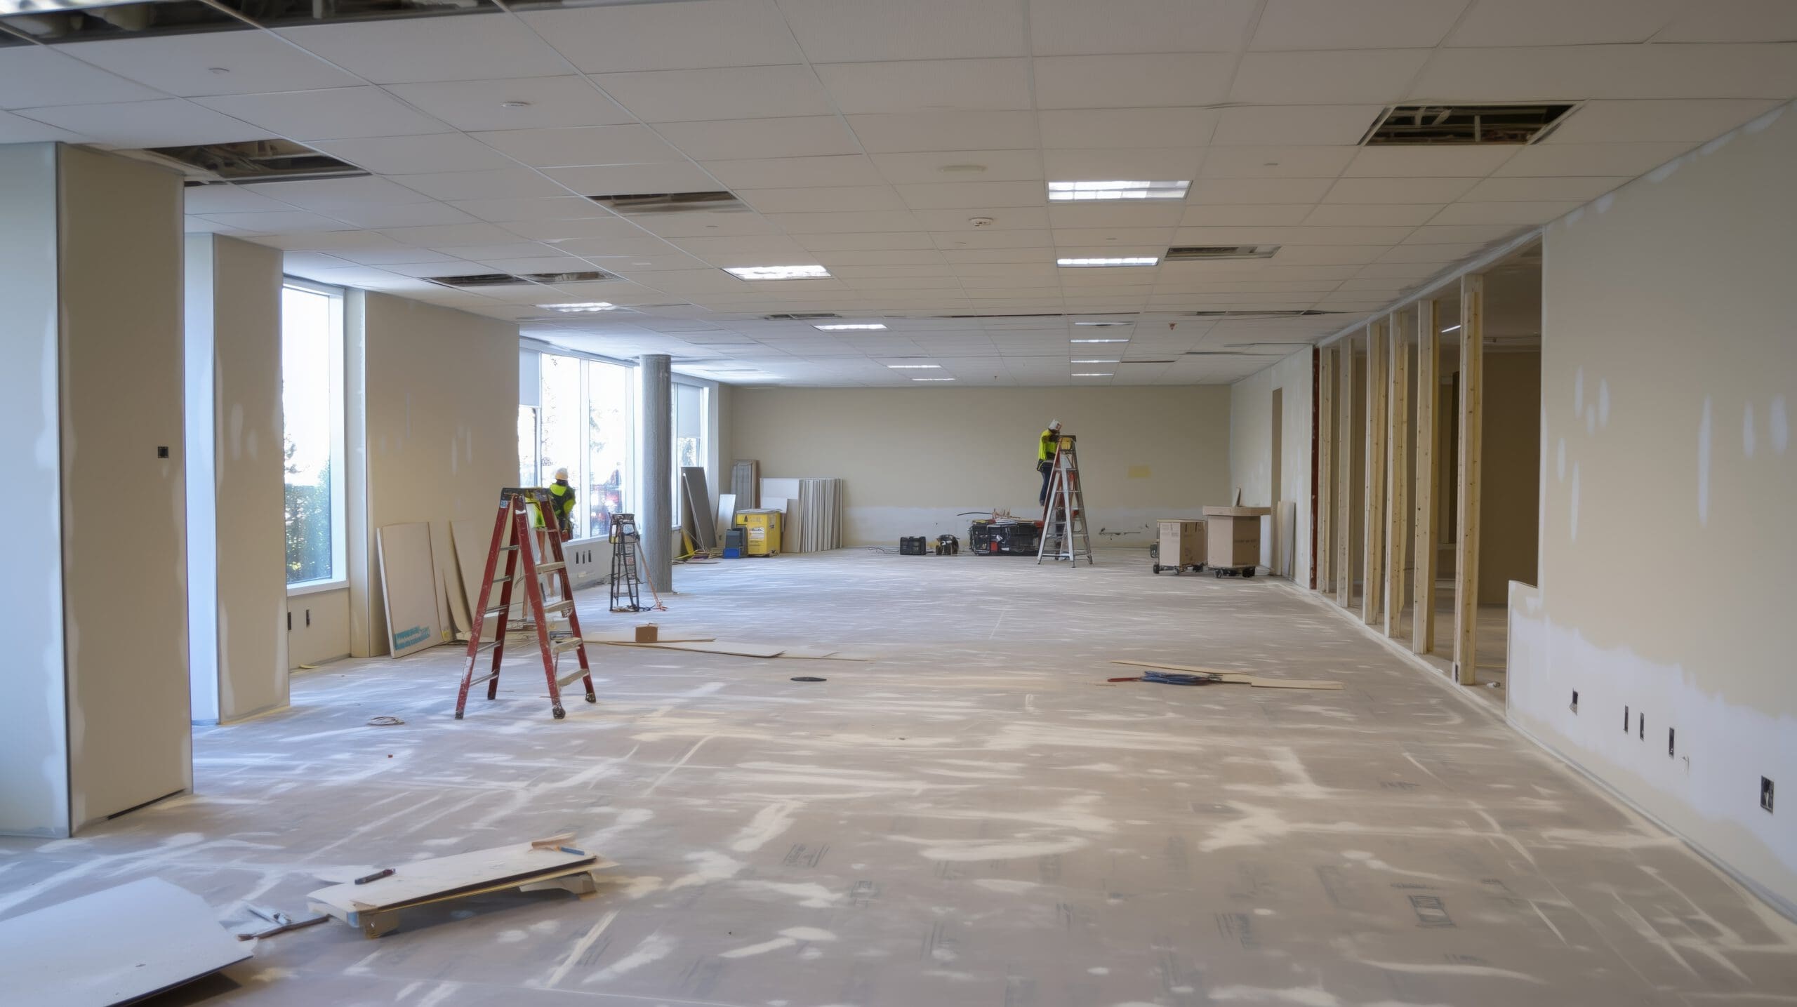
<path fill-rule="evenodd" d="M 1549 226 L 1509 648 L 1518 727 L 1786 910 L 1797 815 L 1759 792 L 1797 781 L 1793 165 L 1784 106 Z"/>

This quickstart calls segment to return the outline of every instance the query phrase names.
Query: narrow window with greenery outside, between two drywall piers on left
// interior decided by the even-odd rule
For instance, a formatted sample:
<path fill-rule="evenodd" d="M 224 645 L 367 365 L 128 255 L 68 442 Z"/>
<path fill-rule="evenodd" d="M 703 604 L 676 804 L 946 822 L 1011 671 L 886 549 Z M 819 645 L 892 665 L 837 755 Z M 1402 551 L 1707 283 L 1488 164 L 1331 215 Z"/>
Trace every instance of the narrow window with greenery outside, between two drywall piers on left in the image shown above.
<path fill-rule="evenodd" d="M 343 293 L 280 291 L 280 425 L 288 585 L 343 578 Z"/>

